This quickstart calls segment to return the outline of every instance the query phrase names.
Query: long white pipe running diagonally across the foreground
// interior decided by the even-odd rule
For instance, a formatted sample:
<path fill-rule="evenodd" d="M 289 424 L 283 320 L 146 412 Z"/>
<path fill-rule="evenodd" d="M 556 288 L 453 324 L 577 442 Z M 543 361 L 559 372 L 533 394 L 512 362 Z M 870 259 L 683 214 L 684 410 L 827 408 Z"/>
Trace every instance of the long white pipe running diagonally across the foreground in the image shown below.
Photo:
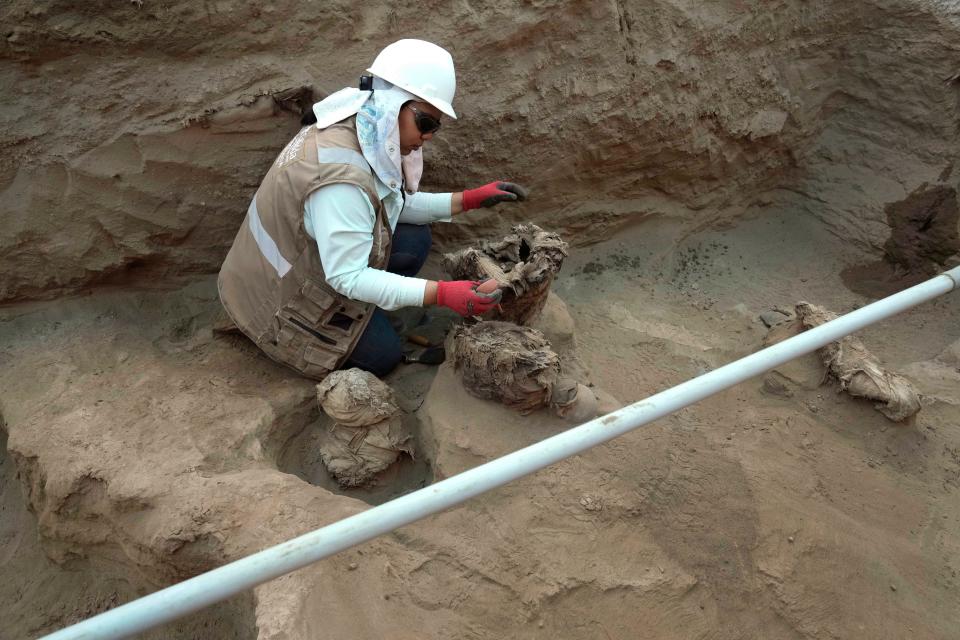
<path fill-rule="evenodd" d="M 225 600 L 381 534 L 443 511 L 728 389 L 798 356 L 949 293 L 960 267 L 519 451 L 219 569 L 111 609 L 44 640 L 125 638 Z"/>

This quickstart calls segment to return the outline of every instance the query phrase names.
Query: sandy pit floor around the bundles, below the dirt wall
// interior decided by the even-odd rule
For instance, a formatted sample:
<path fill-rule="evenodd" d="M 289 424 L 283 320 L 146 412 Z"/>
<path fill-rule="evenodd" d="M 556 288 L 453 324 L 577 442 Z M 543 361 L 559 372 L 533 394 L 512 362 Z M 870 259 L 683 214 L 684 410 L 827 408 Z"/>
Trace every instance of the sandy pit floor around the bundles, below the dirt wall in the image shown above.
<path fill-rule="evenodd" d="M 568 338 L 584 376 L 626 403 L 759 348 L 766 328 L 758 315 L 771 307 L 800 299 L 838 311 L 863 304 L 839 274 L 865 257 L 816 219 L 786 210 L 693 235 L 653 221 L 576 252 L 554 291 L 575 323 Z M 335 498 L 311 454 L 324 418 L 309 406 L 310 385 L 242 340 L 214 338 L 215 312 L 204 280 L 167 293 L 20 308 L 0 325 L 11 447 L 42 523 L 38 532 L 8 465 L 4 513 L 16 515 L 3 557 L 14 579 L 3 588 L 58 603 L 8 600 L 14 637 L 262 547 L 266 539 L 231 531 L 246 518 L 260 521 L 264 509 L 276 513 L 263 522 L 285 523 L 269 536 L 279 539 L 328 519 L 323 510 L 338 504 L 328 500 L 355 504 L 349 512 L 362 507 L 358 500 L 380 502 L 568 426 L 472 398 L 449 365 L 409 365 L 390 382 L 405 398 L 423 457 L 378 487 Z M 561 340 L 571 325 L 556 316 L 545 329 Z M 821 384 L 821 365 L 808 356 L 321 563 L 295 588 L 261 587 L 256 604 L 238 601 L 199 624 L 216 630 L 208 637 L 253 637 L 257 627 L 259 637 L 309 637 L 317 624 L 356 638 L 387 629 L 406 637 L 424 625 L 433 637 L 464 638 L 627 638 L 638 629 L 653 637 L 951 637 L 960 623 L 960 387 L 943 384 L 949 368 L 934 358 L 960 339 L 958 319 L 952 296 L 863 332 L 891 367 L 941 367 L 913 377 L 925 393 L 914 424 L 891 423 Z M 158 368 L 167 373 L 152 373 Z M 137 390 L 164 376 L 174 379 L 168 392 Z M 120 382 L 131 378 L 139 380 Z M 254 382 L 274 389 L 266 413 L 256 409 L 264 396 Z M 289 397 L 277 399 L 284 387 Z M 182 411 L 190 422 L 171 431 Z M 189 434 L 186 448 L 178 431 Z M 79 460 L 58 468 L 50 439 L 81 434 L 87 444 L 68 447 Z M 104 451 L 115 453 L 105 461 Z M 105 495 L 76 484 L 90 474 L 87 456 L 97 460 Z M 128 459 L 137 460 L 135 471 Z M 147 473 L 144 464 L 166 470 Z M 38 487 L 31 475 L 41 471 Z M 251 473 L 261 483 L 262 474 L 280 479 L 266 495 L 244 494 L 256 496 L 256 506 L 236 496 L 249 490 L 237 478 Z M 211 494 L 212 485 L 197 484 L 202 478 L 234 495 Z M 171 511 L 167 494 L 186 504 Z M 288 505 L 303 499 L 320 512 L 298 509 L 291 519 Z M 219 534 L 204 535 L 211 531 Z M 61 566 L 41 553 L 38 533 Z M 376 582 L 351 581 L 358 571 Z M 353 616 L 369 613 L 371 601 L 380 613 L 358 625 Z M 190 629 L 183 637 L 196 633 Z"/>

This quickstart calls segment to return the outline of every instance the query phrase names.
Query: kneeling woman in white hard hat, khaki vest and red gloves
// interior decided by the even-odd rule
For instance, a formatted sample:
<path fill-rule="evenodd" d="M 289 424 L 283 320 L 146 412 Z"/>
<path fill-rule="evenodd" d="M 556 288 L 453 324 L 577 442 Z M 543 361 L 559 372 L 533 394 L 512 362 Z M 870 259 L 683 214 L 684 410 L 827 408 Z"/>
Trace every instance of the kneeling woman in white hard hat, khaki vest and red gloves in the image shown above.
<path fill-rule="evenodd" d="M 479 314 L 495 299 L 476 282 L 414 277 L 431 222 L 522 200 L 492 182 L 458 193 L 417 191 L 422 147 L 456 118 L 450 54 L 422 40 L 386 47 L 359 89 L 313 106 L 316 122 L 264 177 L 220 269 L 220 299 L 267 355 L 321 379 L 342 367 L 378 376 L 402 358 L 383 309 L 439 304 Z"/>

